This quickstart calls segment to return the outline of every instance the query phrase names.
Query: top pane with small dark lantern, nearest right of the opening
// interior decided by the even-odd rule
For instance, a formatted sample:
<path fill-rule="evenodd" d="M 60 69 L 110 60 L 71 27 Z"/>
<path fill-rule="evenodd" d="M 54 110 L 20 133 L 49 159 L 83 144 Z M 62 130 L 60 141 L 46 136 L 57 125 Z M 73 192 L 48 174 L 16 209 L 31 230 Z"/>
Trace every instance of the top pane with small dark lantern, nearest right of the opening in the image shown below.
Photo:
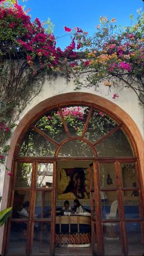
<path fill-rule="evenodd" d="M 112 163 L 99 164 L 100 167 L 100 185 L 101 188 L 116 188 L 116 181 L 115 181 L 115 167 Z M 108 178 L 110 178 L 111 182 L 108 182 Z"/>

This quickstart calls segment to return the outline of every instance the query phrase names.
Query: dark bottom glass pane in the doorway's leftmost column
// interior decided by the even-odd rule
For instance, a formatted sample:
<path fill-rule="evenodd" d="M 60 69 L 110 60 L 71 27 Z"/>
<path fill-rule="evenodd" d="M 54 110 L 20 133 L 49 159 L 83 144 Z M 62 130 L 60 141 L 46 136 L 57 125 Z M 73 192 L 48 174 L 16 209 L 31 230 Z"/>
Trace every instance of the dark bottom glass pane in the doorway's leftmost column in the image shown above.
<path fill-rule="evenodd" d="M 10 225 L 8 254 L 26 253 L 27 223 L 12 222 Z"/>

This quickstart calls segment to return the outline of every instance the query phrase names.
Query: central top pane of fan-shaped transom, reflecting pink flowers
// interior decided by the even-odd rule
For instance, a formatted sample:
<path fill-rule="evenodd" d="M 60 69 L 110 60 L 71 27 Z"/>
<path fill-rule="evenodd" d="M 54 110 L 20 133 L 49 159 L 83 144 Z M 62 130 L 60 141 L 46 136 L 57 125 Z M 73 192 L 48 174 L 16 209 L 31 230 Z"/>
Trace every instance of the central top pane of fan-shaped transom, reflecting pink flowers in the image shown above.
<path fill-rule="evenodd" d="M 70 106 L 62 108 L 62 114 L 70 136 L 82 136 L 88 112 L 89 107 L 87 106 Z"/>

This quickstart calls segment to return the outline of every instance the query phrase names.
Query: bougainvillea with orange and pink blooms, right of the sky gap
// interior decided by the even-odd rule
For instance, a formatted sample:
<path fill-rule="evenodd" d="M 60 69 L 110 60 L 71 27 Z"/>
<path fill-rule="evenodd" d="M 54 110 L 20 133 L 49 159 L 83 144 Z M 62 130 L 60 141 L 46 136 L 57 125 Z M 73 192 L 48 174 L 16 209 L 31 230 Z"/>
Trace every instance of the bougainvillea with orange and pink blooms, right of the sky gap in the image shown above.
<path fill-rule="evenodd" d="M 109 21 L 101 17 L 93 37 L 75 30 L 74 41 L 79 54 L 69 65 L 76 89 L 99 87 L 101 83 L 110 89 L 119 87 L 121 81 L 122 88 L 134 90 L 140 103 L 144 103 L 143 13 L 140 10 L 137 13 L 136 22 L 124 28 L 118 28 L 115 18 Z M 113 99 L 117 97 L 117 93 L 113 95 Z"/>

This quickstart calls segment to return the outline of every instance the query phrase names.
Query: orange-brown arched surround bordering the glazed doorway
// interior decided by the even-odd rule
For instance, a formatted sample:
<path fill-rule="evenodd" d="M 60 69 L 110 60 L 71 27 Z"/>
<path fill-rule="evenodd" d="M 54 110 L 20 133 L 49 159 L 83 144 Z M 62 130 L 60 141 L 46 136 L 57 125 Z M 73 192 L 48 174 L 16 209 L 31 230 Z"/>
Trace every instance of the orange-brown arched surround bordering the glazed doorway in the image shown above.
<path fill-rule="evenodd" d="M 73 99 L 73 100 L 71 100 Z M 41 103 L 37 104 L 31 111 L 29 111 L 21 120 L 19 125 L 16 127 L 12 140 L 10 142 L 10 151 L 9 156 L 7 158 L 7 167 L 11 170 L 13 169 L 13 156 L 15 155 L 16 143 L 18 140 L 21 140 L 21 137 L 26 132 L 27 127 L 29 127 L 29 123 L 32 120 L 37 119 L 37 117 L 43 115 L 46 109 L 55 108 L 59 102 L 59 106 L 65 104 L 87 104 L 89 106 L 95 105 L 96 108 L 101 109 L 113 116 L 115 120 L 119 120 L 123 123 L 124 130 L 128 134 L 128 137 L 132 143 L 134 148 L 135 156 L 138 158 L 138 166 L 139 166 L 139 180 L 140 180 L 140 188 L 142 189 L 142 200 L 144 201 L 144 189 L 143 189 L 143 180 L 144 173 L 143 170 L 143 139 L 142 135 L 137 128 L 137 125 L 131 119 L 131 117 L 123 111 L 119 106 L 112 103 L 111 101 L 99 97 L 98 95 L 93 95 L 92 93 L 83 93 L 83 92 L 71 92 L 71 93 L 63 93 L 62 95 L 57 95 L 55 97 L 48 98 L 47 100 L 41 101 Z M 113 114 L 115 113 L 115 114 Z M 33 118 L 32 118 L 33 117 Z M 43 159 L 45 161 L 45 159 Z M 44 162 L 43 162 L 44 163 Z M 11 181 L 10 181 L 11 180 Z M 9 189 L 8 189 L 9 188 Z M 8 177 L 5 174 L 4 178 L 4 189 L 2 193 L 2 209 L 6 208 L 10 204 L 10 191 L 12 188 L 12 178 Z M 0 234 L 0 249 L 2 248 L 3 235 L 4 235 L 4 227 L 1 228 L 3 232 Z"/>

